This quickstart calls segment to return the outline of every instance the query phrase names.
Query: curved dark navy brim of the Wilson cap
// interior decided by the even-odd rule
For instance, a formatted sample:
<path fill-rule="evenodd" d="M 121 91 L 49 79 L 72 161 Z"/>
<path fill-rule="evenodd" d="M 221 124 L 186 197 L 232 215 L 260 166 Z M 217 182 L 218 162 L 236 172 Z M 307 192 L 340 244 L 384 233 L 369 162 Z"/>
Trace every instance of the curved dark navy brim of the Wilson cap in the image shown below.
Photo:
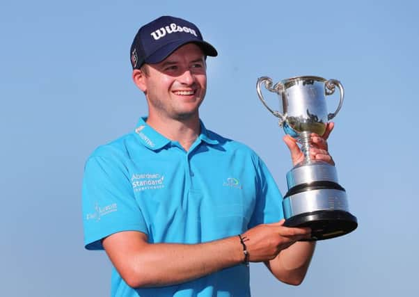
<path fill-rule="evenodd" d="M 179 47 L 182 47 L 182 45 L 187 45 L 188 43 L 194 43 L 198 45 L 203 50 L 203 53 L 205 54 L 205 56 L 215 57 L 218 55 L 215 47 L 210 45 L 208 42 L 196 40 L 196 39 L 177 40 L 177 41 L 168 43 L 167 45 L 164 45 L 164 47 L 161 47 L 161 49 L 158 49 L 152 55 L 145 58 L 144 61 L 145 63 L 148 63 L 148 64 L 160 63 L 165 58 L 170 56 L 173 53 L 173 51 L 175 51 Z"/>

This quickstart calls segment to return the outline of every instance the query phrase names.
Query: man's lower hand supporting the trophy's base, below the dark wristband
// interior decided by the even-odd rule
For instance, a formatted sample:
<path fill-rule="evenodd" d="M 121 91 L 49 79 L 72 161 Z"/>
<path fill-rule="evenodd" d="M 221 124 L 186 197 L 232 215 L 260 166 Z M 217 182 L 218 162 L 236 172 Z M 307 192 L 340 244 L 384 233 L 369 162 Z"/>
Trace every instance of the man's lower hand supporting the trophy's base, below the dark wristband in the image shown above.
<path fill-rule="evenodd" d="M 296 241 L 310 238 L 310 228 L 285 227 L 284 222 L 285 220 L 280 220 L 278 223 L 258 225 L 242 234 L 249 262 L 274 259 L 281 250 L 285 250 Z"/>

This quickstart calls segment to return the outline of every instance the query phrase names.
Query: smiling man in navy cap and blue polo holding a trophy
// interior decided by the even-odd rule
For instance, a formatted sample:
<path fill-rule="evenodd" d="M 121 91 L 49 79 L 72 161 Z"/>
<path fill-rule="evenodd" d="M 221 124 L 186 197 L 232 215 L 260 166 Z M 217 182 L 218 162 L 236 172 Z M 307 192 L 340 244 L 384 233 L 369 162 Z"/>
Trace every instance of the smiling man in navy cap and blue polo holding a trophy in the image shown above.
<path fill-rule="evenodd" d="M 85 244 L 113 264 L 112 296 L 250 296 L 248 262 L 299 284 L 315 243 L 309 228 L 283 226 L 281 196 L 248 147 L 209 131 L 199 118 L 206 57 L 199 29 L 160 17 L 139 29 L 132 78 L 148 117 L 86 162 Z M 315 159 L 333 163 L 328 125 L 313 136 Z M 285 136 L 292 160 L 303 159 Z"/>

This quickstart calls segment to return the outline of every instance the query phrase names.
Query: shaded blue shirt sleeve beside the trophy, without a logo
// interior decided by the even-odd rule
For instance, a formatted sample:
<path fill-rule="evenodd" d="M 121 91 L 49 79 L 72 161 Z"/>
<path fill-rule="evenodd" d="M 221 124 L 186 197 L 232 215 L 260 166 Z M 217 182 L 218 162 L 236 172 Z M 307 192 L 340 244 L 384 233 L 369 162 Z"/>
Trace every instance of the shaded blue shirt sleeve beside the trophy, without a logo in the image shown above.
<path fill-rule="evenodd" d="M 267 166 L 258 158 L 256 166 L 257 197 L 249 228 L 260 224 L 275 223 L 283 219 L 282 195 Z"/>

